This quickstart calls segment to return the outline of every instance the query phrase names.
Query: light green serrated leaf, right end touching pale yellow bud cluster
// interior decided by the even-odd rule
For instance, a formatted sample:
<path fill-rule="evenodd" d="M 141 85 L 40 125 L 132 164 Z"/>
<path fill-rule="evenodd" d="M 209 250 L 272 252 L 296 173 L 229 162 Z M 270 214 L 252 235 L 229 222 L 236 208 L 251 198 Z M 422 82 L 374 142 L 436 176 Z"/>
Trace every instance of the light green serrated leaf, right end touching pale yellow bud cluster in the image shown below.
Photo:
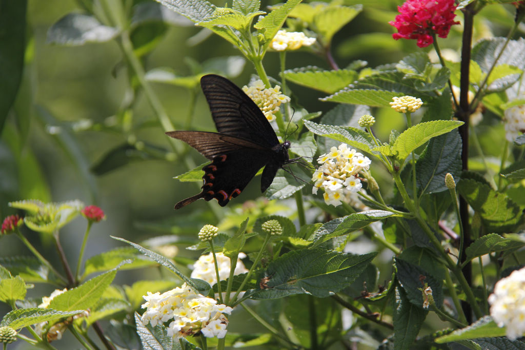
<path fill-rule="evenodd" d="M 345 88 L 320 100 L 350 104 L 366 104 L 370 107 L 390 107 L 390 102 L 392 102 L 393 97 L 401 97 L 404 95 L 403 92 L 395 91 Z"/>

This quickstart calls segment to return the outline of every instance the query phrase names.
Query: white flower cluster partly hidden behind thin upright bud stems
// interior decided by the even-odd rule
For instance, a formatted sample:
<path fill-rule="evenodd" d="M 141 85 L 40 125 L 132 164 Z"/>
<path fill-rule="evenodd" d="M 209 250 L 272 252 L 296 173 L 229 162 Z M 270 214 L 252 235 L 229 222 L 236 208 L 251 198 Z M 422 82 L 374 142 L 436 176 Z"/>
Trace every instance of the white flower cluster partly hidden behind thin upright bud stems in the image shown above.
<path fill-rule="evenodd" d="M 216 253 L 217 267 L 219 268 L 219 278 L 224 281 L 229 277 L 230 259 L 223 253 Z M 248 269 L 244 266 L 243 261 L 240 259 L 246 258 L 245 253 L 239 253 L 239 259 L 237 259 L 237 265 L 235 266 L 234 274 L 241 274 L 248 272 Z M 208 282 L 211 285 L 217 283 L 217 275 L 215 273 L 215 264 L 213 262 L 213 254 L 209 253 L 201 255 L 198 260 L 193 264 L 193 271 L 191 278 L 198 278 Z"/>

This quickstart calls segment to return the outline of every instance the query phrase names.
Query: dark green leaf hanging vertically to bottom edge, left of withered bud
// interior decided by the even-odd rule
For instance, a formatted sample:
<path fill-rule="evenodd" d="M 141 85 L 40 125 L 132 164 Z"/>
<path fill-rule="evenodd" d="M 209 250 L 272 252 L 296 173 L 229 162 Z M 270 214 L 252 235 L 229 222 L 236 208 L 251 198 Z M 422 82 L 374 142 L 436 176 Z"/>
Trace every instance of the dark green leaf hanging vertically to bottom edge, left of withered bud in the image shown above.
<path fill-rule="evenodd" d="M 394 324 L 394 349 L 403 350 L 411 347 L 417 337 L 428 311 L 411 302 L 401 287 L 395 287 L 392 315 Z"/>

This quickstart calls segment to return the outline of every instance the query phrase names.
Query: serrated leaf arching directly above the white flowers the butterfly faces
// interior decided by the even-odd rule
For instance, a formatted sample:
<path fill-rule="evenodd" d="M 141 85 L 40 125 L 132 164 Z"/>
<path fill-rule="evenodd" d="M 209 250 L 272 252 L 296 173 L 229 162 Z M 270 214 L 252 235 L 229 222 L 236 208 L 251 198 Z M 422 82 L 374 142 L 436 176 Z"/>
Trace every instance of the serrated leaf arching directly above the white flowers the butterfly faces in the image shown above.
<path fill-rule="evenodd" d="M 351 126 L 317 124 L 309 120 L 304 121 L 304 125 L 316 135 L 330 137 L 330 139 L 348 143 L 356 149 L 360 149 L 377 157 L 377 152 L 373 151 L 376 146 L 374 139 L 369 133 L 363 130 L 352 128 Z"/>

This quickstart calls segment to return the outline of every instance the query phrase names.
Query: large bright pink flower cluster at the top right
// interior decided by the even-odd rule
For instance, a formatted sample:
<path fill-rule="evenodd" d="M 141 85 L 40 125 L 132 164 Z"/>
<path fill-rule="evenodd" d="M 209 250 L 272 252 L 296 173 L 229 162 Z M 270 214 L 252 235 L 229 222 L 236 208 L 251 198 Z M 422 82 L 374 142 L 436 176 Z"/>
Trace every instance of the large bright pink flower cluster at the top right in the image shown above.
<path fill-rule="evenodd" d="M 456 4 L 454 0 L 407 0 L 403 6 L 397 6 L 400 13 L 395 21 L 388 24 L 396 27 L 397 39 L 417 39 L 417 46 L 427 47 L 434 43 L 433 35 L 446 38 L 454 21 Z"/>

